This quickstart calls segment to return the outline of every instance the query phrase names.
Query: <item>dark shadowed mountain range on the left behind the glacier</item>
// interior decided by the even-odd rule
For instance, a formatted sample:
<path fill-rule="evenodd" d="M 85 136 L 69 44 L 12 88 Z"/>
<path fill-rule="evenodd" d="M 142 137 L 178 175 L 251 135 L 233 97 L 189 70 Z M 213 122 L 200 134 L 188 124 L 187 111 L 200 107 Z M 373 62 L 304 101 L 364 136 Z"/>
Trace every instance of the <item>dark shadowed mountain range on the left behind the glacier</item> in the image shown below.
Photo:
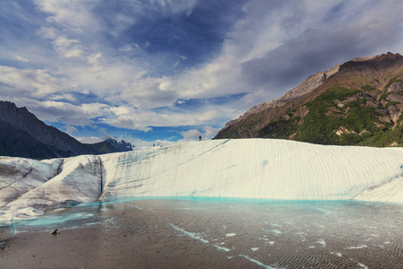
<path fill-rule="evenodd" d="M 0 101 L 1 156 L 47 159 L 132 150 L 131 143 L 116 139 L 95 144 L 80 143 L 69 134 L 47 126 L 27 108 L 17 108 L 10 101 Z"/>

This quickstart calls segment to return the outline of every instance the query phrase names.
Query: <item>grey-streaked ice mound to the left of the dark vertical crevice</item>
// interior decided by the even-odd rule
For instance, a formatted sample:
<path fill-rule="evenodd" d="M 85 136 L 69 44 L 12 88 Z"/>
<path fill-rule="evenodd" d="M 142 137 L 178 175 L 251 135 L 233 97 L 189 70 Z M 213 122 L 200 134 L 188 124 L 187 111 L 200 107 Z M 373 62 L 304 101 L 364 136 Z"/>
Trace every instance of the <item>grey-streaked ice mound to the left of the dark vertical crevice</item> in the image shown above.
<path fill-rule="evenodd" d="M 11 219 L 25 219 L 39 215 L 43 213 L 42 210 L 56 207 L 60 204 L 72 202 L 83 203 L 97 200 L 100 195 L 99 177 L 101 175 L 99 157 L 84 155 L 64 159 L 63 161 L 63 164 L 61 161 L 56 161 L 61 166 L 53 166 L 54 175 L 51 179 L 44 180 L 42 184 L 30 188 L 29 191 L 26 191 L 26 188 L 22 187 L 18 195 L 10 195 L 10 192 L 3 194 L 4 189 L 1 189 L 1 197 L 6 197 L 6 200 L 14 198 L 14 200 L 3 206 L 2 213 L 0 213 L 0 221 L 10 220 L 11 214 L 13 215 Z M 39 164 L 42 164 L 41 161 L 33 162 L 33 167 L 38 167 L 40 166 Z M 49 172 L 48 166 L 40 166 L 40 168 L 44 176 L 52 174 Z M 59 174 L 57 174 L 58 170 L 60 171 Z M 39 171 L 36 171 L 35 175 L 37 173 L 40 174 Z M 0 180 L 6 178 L 4 177 Z M 32 182 L 39 182 L 38 179 L 34 181 L 32 179 L 34 177 L 29 178 L 27 176 L 25 178 L 27 179 L 24 180 L 24 178 L 21 178 L 18 182 L 26 183 L 25 181 L 27 181 L 30 184 Z M 40 177 L 35 178 L 41 179 Z M 15 183 L 12 186 L 15 186 Z M 27 211 L 27 208 L 30 210 Z"/>

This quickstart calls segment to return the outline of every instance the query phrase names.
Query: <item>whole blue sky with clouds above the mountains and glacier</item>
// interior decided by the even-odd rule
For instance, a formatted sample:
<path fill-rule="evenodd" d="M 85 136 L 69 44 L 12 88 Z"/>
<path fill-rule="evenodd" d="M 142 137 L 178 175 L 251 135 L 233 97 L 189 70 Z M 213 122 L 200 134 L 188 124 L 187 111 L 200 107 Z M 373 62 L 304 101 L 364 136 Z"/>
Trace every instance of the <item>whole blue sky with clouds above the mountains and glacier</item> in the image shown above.
<path fill-rule="evenodd" d="M 210 139 L 311 74 L 403 54 L 401 0 L 1 0 L 0 100 L 82 143 Z"/>

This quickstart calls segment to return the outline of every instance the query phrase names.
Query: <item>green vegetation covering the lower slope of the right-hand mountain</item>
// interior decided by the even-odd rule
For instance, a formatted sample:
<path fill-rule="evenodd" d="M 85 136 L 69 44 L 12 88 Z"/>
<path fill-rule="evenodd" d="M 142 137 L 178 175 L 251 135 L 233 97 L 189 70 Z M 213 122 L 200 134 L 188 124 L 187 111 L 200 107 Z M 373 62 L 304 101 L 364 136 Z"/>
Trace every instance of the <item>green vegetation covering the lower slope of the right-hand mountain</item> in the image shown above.
<path fill-rule="evenodd" d="M 296 109 L 289 110 L 287 120 L 281 117 L 270 122 L 259 130 L 258 137 L 340 145 L 403 144 L 401 128 L 391 130 L 392 124 L 381 120 L 380 109 L 367 105 L 368 98 L 364 97 L 371 97 L 368 92 L 373 90 L 369 85 L 361 90 L 330 87 L 305 104 L 309 110 L 305 117 L 292 117 Z M 353 98 L 347 101 L 349 97 Z M 398 103 L 389 102 L 387 106 Z"/>

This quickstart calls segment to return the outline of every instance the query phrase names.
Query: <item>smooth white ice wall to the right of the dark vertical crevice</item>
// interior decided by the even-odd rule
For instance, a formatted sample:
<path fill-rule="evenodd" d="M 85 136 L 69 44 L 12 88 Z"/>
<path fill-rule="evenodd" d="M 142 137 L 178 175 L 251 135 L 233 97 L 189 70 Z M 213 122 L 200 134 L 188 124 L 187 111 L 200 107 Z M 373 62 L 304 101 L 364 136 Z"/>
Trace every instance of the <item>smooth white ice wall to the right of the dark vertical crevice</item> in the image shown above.
<path fill-rule="evenodd" d="M 340 200 L 403 172 L 400 148 L 323 146 L 267 139 L 181 143 L 100 158 L 105 167 L 102 198 Z M 400 202 L 402 190 L 394 190 L 401 194 Z M 387 201 L 388 194 L 380 195 L 382 201 Z"/>

